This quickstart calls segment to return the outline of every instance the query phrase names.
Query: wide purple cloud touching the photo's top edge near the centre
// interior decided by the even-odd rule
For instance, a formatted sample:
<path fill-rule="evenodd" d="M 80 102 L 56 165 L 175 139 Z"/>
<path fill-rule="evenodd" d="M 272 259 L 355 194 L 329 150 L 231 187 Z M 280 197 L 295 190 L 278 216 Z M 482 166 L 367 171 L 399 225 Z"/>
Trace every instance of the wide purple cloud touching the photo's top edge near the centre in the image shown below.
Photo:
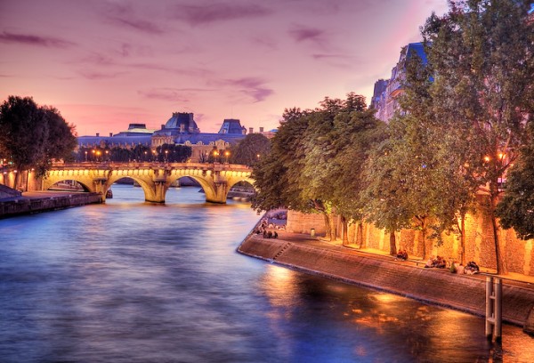
<path fill-rule="evenodd" d="M 257 4 L 177 4 L 174 18 L 183 20 L 191 26 L 209 24 L 217 21 L 261 17 L 271 14 L 271 10 Z"/>

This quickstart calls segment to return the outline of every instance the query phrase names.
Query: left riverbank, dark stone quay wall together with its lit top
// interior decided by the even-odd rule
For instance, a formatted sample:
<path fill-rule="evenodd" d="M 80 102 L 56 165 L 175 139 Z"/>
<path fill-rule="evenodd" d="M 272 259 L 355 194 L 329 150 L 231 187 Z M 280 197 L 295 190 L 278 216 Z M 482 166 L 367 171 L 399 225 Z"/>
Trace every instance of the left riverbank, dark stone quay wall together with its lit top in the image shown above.
<path fill-rule="evenodd" d="M 0 199 L 0 219 L 98 203 L 99 193 L 30 191 L 20 197 Z"/>

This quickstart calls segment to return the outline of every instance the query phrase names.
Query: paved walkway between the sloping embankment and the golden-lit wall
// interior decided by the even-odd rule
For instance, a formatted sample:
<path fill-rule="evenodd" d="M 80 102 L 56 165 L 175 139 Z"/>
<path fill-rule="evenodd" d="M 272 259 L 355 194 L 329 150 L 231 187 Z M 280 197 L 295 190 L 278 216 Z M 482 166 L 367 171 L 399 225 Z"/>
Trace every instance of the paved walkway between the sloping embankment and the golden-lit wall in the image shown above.
<path fill-rule="evenodd" d="M 274 231 L 275 229 L 270 229 Z M 425 261 L 421 259 L 409 259 L 408 261 L 401 261 L 395 257 L 387 254 L 382 250 L 372 249 L 372 248 L 358 248 L 357 245 L 343 246 L 340 240 L 328 241 L 320 237 L 312 237 L 308 234 L 302 233 L 290 233 L 286 230 L 276 230 L 279 234 L 279 239 L 285 240 L 287 242 L 300 243 L 310 246 L 316 246 L 320 248 L 328 248 L 331 250 L 336 250 L 338 252 L 343 252 L 346 254 L 357 254 L 362 255 L 368 258 L 376 258 L 391 262 L 401 263 L 403 265 L 413 266 L 417 269 L 425 268 Z M 263 238 L 261 235 L 256 235 L 255 238 Z M 498 276 L 496 270 L 484 269 L 481 268 L 481 273 L 476 275 L 470 275 L 477 278 L 485 278 L 487 275 Z M 517 286 L 523 286 L 527 288 L 534 289 L 534 276 L 525 276 L 520 273 L 510 272 L 508 275 L 499 276 L 503 278 L 504 282 L 507 284 L 513 284 Z"/>

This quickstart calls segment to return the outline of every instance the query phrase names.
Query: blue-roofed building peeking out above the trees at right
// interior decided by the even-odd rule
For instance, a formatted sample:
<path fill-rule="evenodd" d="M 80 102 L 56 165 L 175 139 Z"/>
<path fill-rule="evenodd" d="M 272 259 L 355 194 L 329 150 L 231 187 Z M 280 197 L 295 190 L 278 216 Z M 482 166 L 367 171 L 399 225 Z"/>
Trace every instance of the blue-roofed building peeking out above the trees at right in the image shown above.
<path fill-rule="evenodd" d="M 375 92 L 370 107 L 376 109 L 376 117 L 384 122 L 388 122 L 397 110 L 402 112 L 399 97 L 404 93 L 402 84 L 406 79 L 407 61 L 413 54 L 417 54 L 423 64 L 426 64 L 424 45 L 422 43 L 410 43 L 402 47 L 399 61 L 392 68 L 392 77 L 387 80 L 379 79 L 375 83 Z"/>

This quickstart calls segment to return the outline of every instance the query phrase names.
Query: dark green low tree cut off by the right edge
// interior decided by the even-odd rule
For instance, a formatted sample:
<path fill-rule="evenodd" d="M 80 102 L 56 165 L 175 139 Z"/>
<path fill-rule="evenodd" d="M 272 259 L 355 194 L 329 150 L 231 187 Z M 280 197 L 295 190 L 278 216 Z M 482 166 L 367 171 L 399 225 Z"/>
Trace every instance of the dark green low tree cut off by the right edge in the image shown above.
<path fill-rule="evenodd" d="M 505 229 L 514 228 L 522 239 L 534 238 L 534 125 L 530 143 L 521 149 L 506 179 L 506 192 L 498 203 L 497 215 Z"/>

